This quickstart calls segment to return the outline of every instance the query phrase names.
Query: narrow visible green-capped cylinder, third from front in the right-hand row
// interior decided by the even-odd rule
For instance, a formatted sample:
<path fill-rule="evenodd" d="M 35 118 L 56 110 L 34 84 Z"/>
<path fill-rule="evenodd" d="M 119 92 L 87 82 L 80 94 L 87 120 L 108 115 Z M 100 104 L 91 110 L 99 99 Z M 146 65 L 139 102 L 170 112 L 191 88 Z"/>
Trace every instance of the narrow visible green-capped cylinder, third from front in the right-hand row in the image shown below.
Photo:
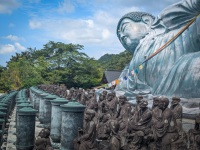
<path fill-rule="evenodd" d="M 48 95 L 44 98 L 44 128 L 51 128 L 51 100 L 56 98 L 58 98 L 58 96 L 55 95 Z"/>

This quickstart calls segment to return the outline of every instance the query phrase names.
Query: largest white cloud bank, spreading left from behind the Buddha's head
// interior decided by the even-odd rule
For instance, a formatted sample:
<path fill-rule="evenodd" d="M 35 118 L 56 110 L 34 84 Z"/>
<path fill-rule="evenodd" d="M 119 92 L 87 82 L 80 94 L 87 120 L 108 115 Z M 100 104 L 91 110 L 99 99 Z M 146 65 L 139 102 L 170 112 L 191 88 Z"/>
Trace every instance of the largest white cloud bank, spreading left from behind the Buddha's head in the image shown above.
<path fill-rule="evenodd" d="M 51 40 L 82 44 L 88 50 L 89 56 L 97 58 L 105 51 L 117 53 L 124 50 L 116 36 L 117 23 L 124 14 L 145 11 L 157 15 L 166 6 L 178 1 L 64 0 L 59 3 L 58 14 L 34 16 L 29 20 L 29 26 L 31 29 L 39 29 Z M 59 15 L 72 12 L 76 16 L 84 17 L 73 19 Z M 87 15 L 80 14 L 82 12 L 87 12 Z"/>

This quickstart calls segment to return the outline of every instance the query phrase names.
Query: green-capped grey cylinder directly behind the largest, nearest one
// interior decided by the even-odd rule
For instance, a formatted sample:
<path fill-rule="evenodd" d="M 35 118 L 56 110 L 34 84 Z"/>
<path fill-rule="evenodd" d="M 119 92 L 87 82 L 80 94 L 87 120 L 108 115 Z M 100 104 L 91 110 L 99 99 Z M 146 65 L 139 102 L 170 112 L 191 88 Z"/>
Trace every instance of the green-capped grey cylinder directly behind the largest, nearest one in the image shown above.
<path fill-rule="evenodd" d="M 62 110 L 60 105 L 69 101 L 64 98 L 57 98 L 51 101 L 51 139 L 54 143 L 59 143 L 61 138 Z"/>

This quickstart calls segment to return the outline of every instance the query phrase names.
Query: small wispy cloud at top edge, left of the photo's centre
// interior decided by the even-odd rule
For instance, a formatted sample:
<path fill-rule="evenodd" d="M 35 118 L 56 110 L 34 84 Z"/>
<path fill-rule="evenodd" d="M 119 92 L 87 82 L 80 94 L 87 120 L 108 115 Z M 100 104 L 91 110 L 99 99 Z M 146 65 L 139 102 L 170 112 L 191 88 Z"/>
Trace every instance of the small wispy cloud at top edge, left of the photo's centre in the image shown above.
<path fill-rule="evenodd" d="M 59 13 L 71 13 L 75 9 L 74 4 L 70 0 L 64 0 L 63 2 L 59 3 L 59 7 L 57 11 Z"/>

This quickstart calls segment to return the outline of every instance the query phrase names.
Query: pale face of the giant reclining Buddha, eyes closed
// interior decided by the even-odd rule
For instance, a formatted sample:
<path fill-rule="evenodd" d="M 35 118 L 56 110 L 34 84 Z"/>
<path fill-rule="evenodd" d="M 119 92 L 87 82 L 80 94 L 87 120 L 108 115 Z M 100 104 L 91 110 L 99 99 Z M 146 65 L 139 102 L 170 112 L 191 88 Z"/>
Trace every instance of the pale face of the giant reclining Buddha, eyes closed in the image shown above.
<path fill-rule="evenodd" d="M 135 22 L 125 18 L 119 24 L 118 38 L 124 48 L 130 52 L 134 52 L 140 40 L 145 37 L 149 27 L 144 22 Z"/>

